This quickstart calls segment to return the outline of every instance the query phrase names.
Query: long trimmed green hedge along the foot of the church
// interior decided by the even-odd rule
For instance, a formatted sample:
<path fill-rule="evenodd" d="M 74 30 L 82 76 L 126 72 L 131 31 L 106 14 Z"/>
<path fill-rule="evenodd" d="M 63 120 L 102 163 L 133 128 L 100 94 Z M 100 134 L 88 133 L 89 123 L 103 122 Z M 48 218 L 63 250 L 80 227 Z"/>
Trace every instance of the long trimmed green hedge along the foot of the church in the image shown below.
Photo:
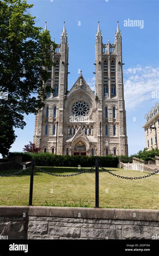
<path fill-rule="evenodd" d="M 92 167 L 95 165 L 96 156 L 63 156 L 52 153 L 23 153 L 23 152 L 12 152 L 10 157 L 22 156 L 22 161 L 31 161 L 33 157 L 35 165 L 37 166 L 65 166 L 65 167 Z M 118 166 L 118 157 L 102 156 L 99 157 L 99 165 L 103 167 L 114 167 Z M 27 159 L 27 160 L 26 160 Z"/>

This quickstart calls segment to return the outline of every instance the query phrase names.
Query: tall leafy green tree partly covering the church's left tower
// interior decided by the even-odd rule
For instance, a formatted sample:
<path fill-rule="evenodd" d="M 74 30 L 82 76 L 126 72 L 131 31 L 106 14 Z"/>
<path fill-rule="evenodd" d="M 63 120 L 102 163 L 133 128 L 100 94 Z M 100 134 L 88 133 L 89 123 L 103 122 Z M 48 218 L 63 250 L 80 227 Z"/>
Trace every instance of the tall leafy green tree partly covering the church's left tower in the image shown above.
<path fill-rule="evenodd" d="M 11 131 L 10 146 L 15 140 L 13 127 L 26 125 L 23 114 L 37 114 L 46 92 L 53 92 L 44 83 L 50 77 L 47 67 L 54 65 L 51 53 L 56 44 L 48 30 L 41 32 L 42 28 L 35 26 L 36 17 L 29 13 L 32 7 L 25 0 L 0 1 L 0 91 L 8 93 L 7 99 L 0 99 L 0 112 L 5 113 L 3 119 L 0 116 L 0 126 Z M 5 136 L 0 136 L 4 142 L 0 153 L 6 147 Z"/>

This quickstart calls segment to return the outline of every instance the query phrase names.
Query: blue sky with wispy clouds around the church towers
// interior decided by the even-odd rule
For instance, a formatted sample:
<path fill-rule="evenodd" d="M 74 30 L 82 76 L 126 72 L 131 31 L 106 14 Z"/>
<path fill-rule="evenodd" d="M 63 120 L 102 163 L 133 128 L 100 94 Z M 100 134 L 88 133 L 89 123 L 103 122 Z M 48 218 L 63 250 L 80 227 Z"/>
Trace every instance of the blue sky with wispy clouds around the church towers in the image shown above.
<path fill-rule="evenodd" d="M 60 43 L 65 21 L 69 44 L 68 90 L 81 69 L 85 80 L 95 87 L 95 38 L 100 22 L 103 43 L 114 42 L 117 21 L 122 34 L 122 62 L 128 152 L 135 154 L 145 147 L 142 126 L 145 114 L 159 102 L 159 2 L 149 0 L 28 0 L 36 16 L 36 26 L 50 31 Z M 139 20 L 139 26 L 131 21 Z M 79 26 L 80 25 L 80 26 Z M 126 26 L 127 25 L 127 26 Z M 129 25 L 129 26 L 128 26 Z M 154 93 L 155 92 L 155 98 Z M 153 96 L 152 96 L 153 95 Z M 22 151 L 33 141 L 35 116 L 25 116 L 27 125 L 15 129 L 17 138 L 10 151 Z"/>

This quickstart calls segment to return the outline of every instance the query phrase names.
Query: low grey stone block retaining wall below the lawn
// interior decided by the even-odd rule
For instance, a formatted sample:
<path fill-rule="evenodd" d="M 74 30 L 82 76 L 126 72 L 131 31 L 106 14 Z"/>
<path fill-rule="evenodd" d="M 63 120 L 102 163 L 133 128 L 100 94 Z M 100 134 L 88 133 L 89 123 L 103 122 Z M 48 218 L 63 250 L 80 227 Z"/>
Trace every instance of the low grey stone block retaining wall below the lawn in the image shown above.
<path fill-rule="evenodd" d="M 158 210 L 0 206 L 8 239 L 157 239 Z"/>

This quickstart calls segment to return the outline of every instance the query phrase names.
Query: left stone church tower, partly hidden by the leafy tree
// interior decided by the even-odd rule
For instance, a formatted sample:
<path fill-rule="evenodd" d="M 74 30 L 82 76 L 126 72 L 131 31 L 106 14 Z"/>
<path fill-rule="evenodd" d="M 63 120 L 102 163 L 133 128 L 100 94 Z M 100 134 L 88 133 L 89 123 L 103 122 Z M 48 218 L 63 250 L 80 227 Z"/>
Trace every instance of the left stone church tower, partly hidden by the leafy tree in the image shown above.
<path fill-rule="evenodd" d="M 45 25 L 45 30 L 47 29 Z M 44 86 L 51 86 L 54 94 L 47 93 L 43 107 L 36 115 L 34 143 L 40 145 L 41 152 L 52 152 L 62 155 L 63 148 L 63 107 L 64 95 L 67 94 L 68 75 L 68 42 L 65 22 L 61 33 L 61 43 L 58 44 L 54 53 L 51 54 L 52 61 L 56 66 L 47 71 L 51 78 Z M 58 136 L 56 132 L 58 127 Z"/>

